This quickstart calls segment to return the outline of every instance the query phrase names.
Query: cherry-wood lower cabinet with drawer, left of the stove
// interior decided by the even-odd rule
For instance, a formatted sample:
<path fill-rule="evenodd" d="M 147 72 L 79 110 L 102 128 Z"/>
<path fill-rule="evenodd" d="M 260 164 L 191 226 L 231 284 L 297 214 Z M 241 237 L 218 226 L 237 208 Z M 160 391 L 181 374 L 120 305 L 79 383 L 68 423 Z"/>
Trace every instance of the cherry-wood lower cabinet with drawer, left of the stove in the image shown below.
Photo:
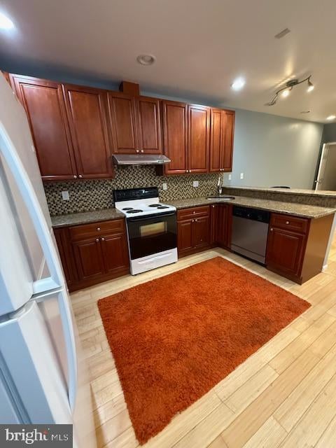
<path fill-rule="evenodd" d="M 54 232 L 70 291 L 130 271 L 125 220 L 57 228 Z"/>

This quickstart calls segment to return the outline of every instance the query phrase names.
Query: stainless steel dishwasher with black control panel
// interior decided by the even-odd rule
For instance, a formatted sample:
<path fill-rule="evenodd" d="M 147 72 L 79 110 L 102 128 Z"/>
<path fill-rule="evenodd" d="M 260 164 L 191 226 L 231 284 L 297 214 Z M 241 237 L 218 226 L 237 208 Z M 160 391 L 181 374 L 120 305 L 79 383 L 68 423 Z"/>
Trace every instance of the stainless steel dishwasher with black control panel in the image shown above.
<path fill-rule="evenodd" d="M 235 205 L 231 250 L 265 264 L 268 226 L 269 211 Z"/>

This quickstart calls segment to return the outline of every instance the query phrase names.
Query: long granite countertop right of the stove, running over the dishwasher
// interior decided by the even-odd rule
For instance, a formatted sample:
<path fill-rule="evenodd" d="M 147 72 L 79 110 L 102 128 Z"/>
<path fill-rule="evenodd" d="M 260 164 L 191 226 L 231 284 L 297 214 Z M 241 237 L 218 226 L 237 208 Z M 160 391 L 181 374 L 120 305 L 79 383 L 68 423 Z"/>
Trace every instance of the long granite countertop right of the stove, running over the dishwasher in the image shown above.
<path fill-rule="evenodd" d="M 328 207 L 317 207 L 316 205 L 297 204 L 295 202 L 281 202 L 265 199 L 254 199 L 253 197 L 235 196 L 235 200 L 218 200 L 216 198 L 208 200 L 206 197 L 196 197 L 193 199 L 181 199 L 169 201 L 170 205 L 174 205 L 176 209 L 187 209 L 188 207 L 196 207 L 197 205 L 209 204 L 236 204 L 252 209 L 263 209 L 275 211 L 282 214 L 300 216 L 302 218 L 321 218 L 335 213 L 336 209 Z"/>

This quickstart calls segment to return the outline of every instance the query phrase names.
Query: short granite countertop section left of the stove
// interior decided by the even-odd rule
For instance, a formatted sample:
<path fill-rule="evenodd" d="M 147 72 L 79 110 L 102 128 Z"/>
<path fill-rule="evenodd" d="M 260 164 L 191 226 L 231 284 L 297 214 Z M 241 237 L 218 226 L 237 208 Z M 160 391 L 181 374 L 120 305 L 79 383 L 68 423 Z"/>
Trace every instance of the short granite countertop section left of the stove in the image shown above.
<path fill-rule="evenodd" d="M 57 215 L 51 217 L 53 228 L 69 227 L 69 225 L 96 223 L 97 221 L 111 221 L 124 218 L 125 215 L 115 209 L 83 211 L 82 213 L 71 213 L 68 215 Z"/>

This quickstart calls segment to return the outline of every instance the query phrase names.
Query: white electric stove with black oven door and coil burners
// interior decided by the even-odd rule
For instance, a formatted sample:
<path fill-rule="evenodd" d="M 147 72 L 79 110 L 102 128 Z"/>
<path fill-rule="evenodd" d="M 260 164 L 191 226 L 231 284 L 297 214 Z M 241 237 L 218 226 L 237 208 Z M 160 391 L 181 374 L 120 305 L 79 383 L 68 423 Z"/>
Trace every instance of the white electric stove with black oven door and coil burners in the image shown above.
<path fill-rule="evenodd" d="M 177 261 L 176 207 L 162 204 L 157 187 L 114 190 L 126 216 L 131 274 Z"/>

